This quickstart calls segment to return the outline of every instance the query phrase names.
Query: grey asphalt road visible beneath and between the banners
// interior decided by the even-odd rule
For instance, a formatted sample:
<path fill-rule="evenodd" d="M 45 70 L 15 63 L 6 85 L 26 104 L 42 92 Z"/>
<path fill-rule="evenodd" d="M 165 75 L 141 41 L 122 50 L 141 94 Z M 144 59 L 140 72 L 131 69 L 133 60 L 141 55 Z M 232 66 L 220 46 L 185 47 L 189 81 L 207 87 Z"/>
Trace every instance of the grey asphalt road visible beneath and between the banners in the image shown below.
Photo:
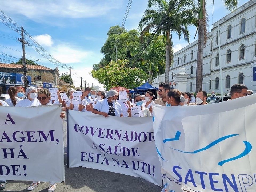
<path fill-rule="evenodd" d="M 66 118 L 65 118 L 66 119 Z M 57 183 L 56 192 L 160 192 L 162 189 L 144 179 L 119 173 L 112 173 L 84 167 L 67 168 L 67 131 L 66 120 L 63 123 L 65 183 Z M 7 181 L 4 191 L 28 191 L 31 181 Z M 48 192 L 48 182 L 41 182 L 33 192 Z M 1 192 L 2 192 L 1 191 Z"/>

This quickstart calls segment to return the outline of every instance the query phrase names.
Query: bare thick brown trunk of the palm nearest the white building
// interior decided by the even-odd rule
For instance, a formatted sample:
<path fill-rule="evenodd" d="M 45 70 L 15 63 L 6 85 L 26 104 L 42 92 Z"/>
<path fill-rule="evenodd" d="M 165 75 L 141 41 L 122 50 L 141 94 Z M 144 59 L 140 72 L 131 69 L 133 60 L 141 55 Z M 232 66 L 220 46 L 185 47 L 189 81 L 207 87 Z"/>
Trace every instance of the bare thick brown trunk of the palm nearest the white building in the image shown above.
<path fill-rule="evenodd" d="M 197 72 L 195 92 L 203 89 L 203 48 L 204 48 L 205 31 L 203 25 L 203 19 L 198 21 L 198 44 L 197 44 Z"/>

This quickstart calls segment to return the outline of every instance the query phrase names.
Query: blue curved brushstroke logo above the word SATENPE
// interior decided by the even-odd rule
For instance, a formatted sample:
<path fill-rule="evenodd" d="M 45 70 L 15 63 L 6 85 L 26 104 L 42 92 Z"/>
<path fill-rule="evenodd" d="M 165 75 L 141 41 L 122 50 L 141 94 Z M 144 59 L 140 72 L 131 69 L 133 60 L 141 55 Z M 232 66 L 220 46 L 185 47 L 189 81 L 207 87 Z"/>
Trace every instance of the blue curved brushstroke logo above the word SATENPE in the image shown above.
<path fill-rule="evenodd" d="M 181 151 L 181 150 L 178 150 L 178 149 L 174 149 L 174 150 L 179 151 L 179 152 L 182 152 L 182 153 L 196 154 L 196 153 L 198 153 L 198 152 L 201 152 L 201 151 L 210 149 L 211 147 L 213 147 L 214 145 L 218 144 L 219 142 L 224 141 L 224 140 L 226 140 L 226 139 L 228 139 L 228 138 L 230 138 L 230 137 L 237 136 L 237 135 L 238 135 L 238 134 L 232 134 L 232 135 L 227 135 L 227 136 L 218 138 L 217 140 L 215 140 L 215 141 L 211 142 L 210 144 L 206 145 L 205 147 L 203 147 L 203 148 L 201 148 L 201 149 L 198 149 L 198 150 L 195 150 L 195 151 L 193 151 L 193 152 L 186 152 L 186 151 Z M 181 132 L 177 131 L 174 138 L 165 139 L 165 140 L 163 140 L 163 143 L 166 143 L 166 142 L 168 142 L 168 141 L 178 141 L 180 136 L 181 136 Z M 252 145 L 251 145 L 248 141 L 243 141 L 243 143 L 245 144 L 245 150 L 244 150 L 241 154 L 239 154 L 238 156 L 235 156 L 235 157 L 233 157 L 233 158 L 220 161 L 220 162 L 218 162 L 218 165 L 222 166 L 222 165 L 223 165 L 224 163 L 226 163 L 226 162 L 239 159 L 239 158 L 244 157 L 244 156 L 246 156 L 247 154 L 249 154 L 250 151 L 251 151 L 251 149 L 252 149 Z M 173 149 L 173 148 L 171 148 L 171 149 Z M 158 149 L 157 149 L 157 153 L 158 153 L 158 154 L 160 155 L 160 157 L 163 159 L 163 157 L 161 156 L 161 154 L 160 154 L 160 152 L 158 151 Z M 163 159 L 163 160 L 166 161 L 165 159 Z"/>

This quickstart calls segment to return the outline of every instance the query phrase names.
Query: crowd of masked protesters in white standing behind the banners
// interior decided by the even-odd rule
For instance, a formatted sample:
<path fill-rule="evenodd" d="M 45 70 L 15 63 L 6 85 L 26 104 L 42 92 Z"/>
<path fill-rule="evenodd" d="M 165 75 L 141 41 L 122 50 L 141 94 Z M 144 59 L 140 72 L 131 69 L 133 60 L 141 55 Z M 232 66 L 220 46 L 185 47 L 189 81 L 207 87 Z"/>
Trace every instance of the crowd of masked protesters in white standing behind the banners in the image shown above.
<path fill-rule="evenodd" d="M 123 90 L 120 90 L 123 91 Z M 120 92 L 119 91 L 119 92 Z M 79 92 L 80 103 L 74 104 L 73 93 Z M 11 107 L 31 107 L 41 105 L 62 105 L 62 110 L 74 110 L 86 113 L 94 113 L 98 115 L 119 116 L 119 117 L 133 117 L 131 109 L 138 107 L 141 110 L 141 117 L 152 116 L 152 106 L 191 106 L 191 105 L 205 105 L 208 104 L 206 91 L 198 91 L 196 97 L 189 92 L 180 92 L 177 89 L 171 89 L 169 83 L 160 83 L 158 86 L 159 98 L 155 99 L 155 95 L 148 91 L 145 95 L 138 93 L 127 94 L 127 99 L 119 99 L 119 92 L 116 90 L 97 91 L 86 87 L 82 89 L 71 89 L 69 93 L 69 100 L 64 100 L 57 91 L 57 100 L 51 100 L 51 93 L 48 89 L 37 89 L 35 87 L 28 87 L 26 90 L 23 87 L 11 86 L 8 89 L 10 99 L 6 101 L 0 100 L 0 106 Z M 0 87 L 0 96 L 2 88 Z M 230 90 L 231 99 L 236 99 L 246 95 L 253 94 L 252 90 L 248 90 L 246 85 L 234 84 Z M 212 92 L 214 96 L 214 92 Z M 65 118 L 65 113 L 60 114 L 60 118 Z M 35 189 L 40 185 L 40 181 L 32 181 L 32 184 L 27 188 L 29 191 Z M 6 181 L 0 181 L 0 190 L 5 189 Z M 56 189 L 56 183 L 50 182 L 48 191 L 52 192 Z"/>

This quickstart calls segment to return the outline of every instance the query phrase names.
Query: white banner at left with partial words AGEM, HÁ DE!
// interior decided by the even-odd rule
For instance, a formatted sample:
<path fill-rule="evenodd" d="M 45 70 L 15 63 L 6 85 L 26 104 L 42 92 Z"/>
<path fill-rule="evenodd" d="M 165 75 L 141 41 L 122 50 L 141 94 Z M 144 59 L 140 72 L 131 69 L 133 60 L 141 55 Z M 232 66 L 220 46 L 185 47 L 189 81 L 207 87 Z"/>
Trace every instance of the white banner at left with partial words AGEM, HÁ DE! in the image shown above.
<path fill-rule="evenodd" d="M 61 110 L 0 106 L 0 180 L 65 180 Z"/>

